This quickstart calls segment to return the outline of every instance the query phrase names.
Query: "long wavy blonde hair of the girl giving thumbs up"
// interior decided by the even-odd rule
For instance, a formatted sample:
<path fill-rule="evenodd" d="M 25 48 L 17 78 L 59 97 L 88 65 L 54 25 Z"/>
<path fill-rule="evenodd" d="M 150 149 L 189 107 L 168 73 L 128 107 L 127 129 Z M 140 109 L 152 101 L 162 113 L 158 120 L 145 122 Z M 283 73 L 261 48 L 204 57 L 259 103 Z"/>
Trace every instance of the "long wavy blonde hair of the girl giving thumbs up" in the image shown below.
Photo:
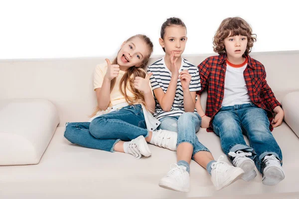
<path fill-rule="evenodd" d="M 152 49 L 153 49 L 153 44 L 150 41 L 149 37 L 147 37 L 146 35 L 143 35 L 143 34 L 134 35 L 134 36 L 130 37 L 129 39 L 127 39 L 126 42 L 131 41 L 135 37 L 139 37 L 143 41 L 145 41 L 145 43 L 148 46 L 149 53 L 138 67 L 132 66 L 126 71 L 126 73 L 124 74 L 124 76 L 122 77 L 122 79 L 120 81 L 119 88 L 120 88 L 121 94 L 125 97 L 125 100 L 127 101 L 127 103 L 129 103 L 130 105 L 133 105 L 136 103 L 141 103 L 147 108 L 144 95 L 142 93 L 140 93 L 139 90 L 134 88 L 134 80 L 136 77 L 145 78 L 147 76 L 147 73 L 145 72 L 145 70 L 142 70 L 142 69 L 146 69 L 146 67 L 148 65 L 149 57 L 150 57 L 150 55 L 152 53 Z M 113 60 L 113 62 L 111 64 L 118 64 L 117 57 Z M 115 83 L 116 83 L 116 78 L 111 80 L 110 93 L 112 92 L 112 90 L 115 86 Z M 127 88 L 135 96 L 134 98 L 131 98 L 130 96 L 127 95 Z M 111 103 L 109 104 L 109 106 L 111 106 Z M 101 109 L 99 108 L 99 106 L 97 106 L 95 108 L 95 111 L 93 112 L 93 114 L 90 115 L 90 117 L 95 116 L 99 110 L 101 110 Z M 153 110 L 149 110 L 149 111 L 153 111 Z"/>

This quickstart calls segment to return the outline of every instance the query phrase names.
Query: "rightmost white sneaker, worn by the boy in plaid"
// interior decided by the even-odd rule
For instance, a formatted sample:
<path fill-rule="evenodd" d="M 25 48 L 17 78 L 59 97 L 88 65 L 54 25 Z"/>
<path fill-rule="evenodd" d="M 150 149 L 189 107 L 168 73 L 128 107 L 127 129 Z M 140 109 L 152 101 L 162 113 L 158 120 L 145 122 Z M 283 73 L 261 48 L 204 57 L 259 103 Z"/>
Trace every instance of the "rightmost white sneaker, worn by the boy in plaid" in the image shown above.
<path fill-rule="evenodd" d="M 264 157 L 262 171 L 264 185 L 277 185 L 285 179 L 285 172 L 275 155 L 267 155 Z"/>

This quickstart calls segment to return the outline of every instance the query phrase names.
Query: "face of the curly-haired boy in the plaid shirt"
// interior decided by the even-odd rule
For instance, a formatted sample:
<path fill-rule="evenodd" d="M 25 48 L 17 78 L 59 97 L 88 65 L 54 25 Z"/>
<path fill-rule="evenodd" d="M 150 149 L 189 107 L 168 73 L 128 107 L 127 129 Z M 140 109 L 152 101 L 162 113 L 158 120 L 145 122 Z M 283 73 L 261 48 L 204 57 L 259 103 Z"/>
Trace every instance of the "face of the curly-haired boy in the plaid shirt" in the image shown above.
<path fill-rule="evenodd" d="M 246 51 L 247 36 L 235 35 L 224 39 L 225 50 L 228 58 L 241 59 Z"/>

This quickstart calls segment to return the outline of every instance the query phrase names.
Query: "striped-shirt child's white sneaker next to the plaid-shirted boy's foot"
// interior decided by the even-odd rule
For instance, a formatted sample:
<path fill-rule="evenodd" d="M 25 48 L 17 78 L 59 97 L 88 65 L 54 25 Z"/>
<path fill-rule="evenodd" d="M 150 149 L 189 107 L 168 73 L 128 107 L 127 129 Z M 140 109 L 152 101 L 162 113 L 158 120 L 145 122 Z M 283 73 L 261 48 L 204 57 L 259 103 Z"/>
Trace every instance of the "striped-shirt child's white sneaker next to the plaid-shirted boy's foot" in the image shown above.
<path fill-rule="evenodd" d="M 214 162 L 211 166 L 211 180 L 217 191 L 232 184 L 244 174 L 241 168 L 219 161 L 222 158 L 223 156 L 220 156 L 217 162 Z"/>

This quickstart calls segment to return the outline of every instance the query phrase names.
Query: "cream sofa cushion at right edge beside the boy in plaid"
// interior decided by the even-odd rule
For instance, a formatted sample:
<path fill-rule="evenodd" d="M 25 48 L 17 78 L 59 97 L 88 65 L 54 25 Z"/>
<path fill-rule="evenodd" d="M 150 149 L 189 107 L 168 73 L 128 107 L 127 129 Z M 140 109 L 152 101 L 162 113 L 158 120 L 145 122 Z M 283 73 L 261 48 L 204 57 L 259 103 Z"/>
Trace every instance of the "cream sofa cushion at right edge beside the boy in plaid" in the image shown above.
<path fill-rule="evenodd" d="M 283 109 L 285 111 L 284 120 L 292 128 L 292 130 L 299 137 L 299 92 L 292 92 L 287 94 L 283 101 Z"/>

